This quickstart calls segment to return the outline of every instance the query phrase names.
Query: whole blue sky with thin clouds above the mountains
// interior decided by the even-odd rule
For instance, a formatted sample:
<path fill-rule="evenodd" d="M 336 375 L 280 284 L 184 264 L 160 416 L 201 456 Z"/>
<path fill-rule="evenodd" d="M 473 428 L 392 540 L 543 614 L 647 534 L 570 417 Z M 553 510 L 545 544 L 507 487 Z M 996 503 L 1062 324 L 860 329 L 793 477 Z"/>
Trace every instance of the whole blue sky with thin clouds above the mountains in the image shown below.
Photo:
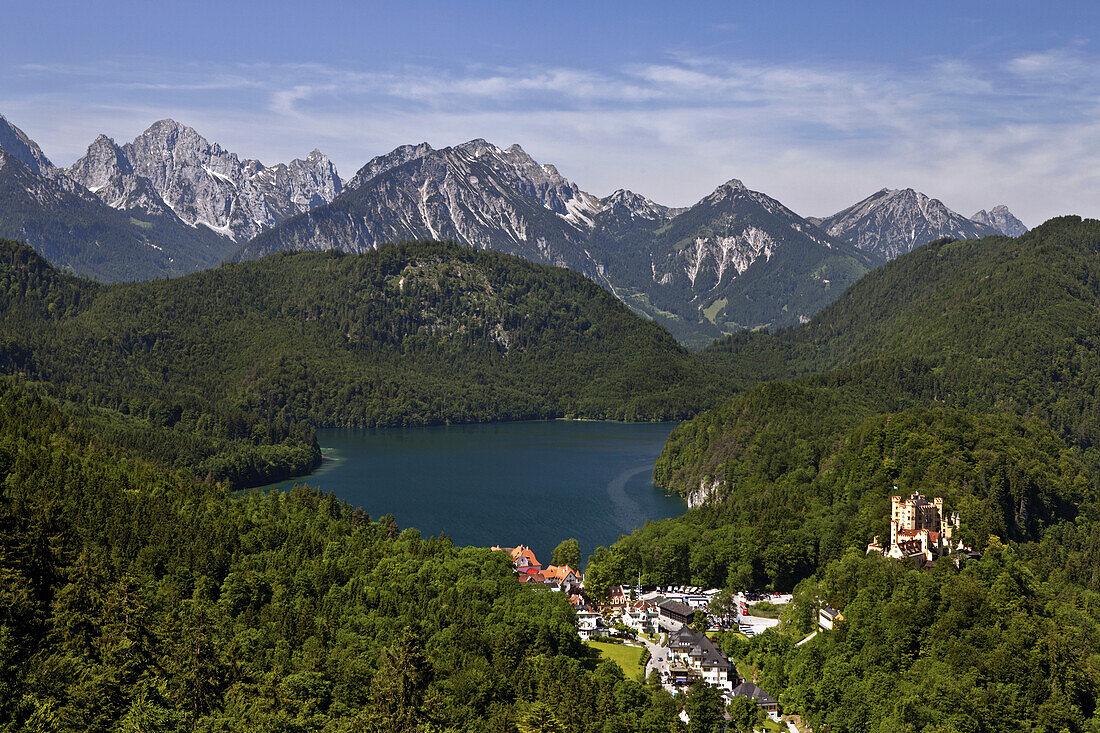
<path fill-rule="evenodd" d="M 912 187 L 1100 218 L 1100 3 L 14 0 L 0 113 L 69 165 L 170 117 L 350 178 L 407 143 L 519 143 L 597 196 L 729 178 L 803 216 Z"/>

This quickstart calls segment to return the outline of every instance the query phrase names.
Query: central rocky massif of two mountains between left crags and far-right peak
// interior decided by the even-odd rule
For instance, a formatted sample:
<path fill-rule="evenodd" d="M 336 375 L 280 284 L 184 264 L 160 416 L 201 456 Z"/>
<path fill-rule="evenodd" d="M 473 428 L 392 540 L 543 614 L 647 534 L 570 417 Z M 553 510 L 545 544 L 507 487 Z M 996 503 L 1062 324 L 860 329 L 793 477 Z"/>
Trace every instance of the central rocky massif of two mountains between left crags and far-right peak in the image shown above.
<path fill-rule="evenodd" d="M 332 204 L 256 237 L 237 258 L 362 252 L 408 238 L 568 266 L 700 346 L 805 320 L 878 262 L 739 182 L 689 209 L 626 190 L 601 200 L 518 145 L 484 140 L 376 157 Z"/>

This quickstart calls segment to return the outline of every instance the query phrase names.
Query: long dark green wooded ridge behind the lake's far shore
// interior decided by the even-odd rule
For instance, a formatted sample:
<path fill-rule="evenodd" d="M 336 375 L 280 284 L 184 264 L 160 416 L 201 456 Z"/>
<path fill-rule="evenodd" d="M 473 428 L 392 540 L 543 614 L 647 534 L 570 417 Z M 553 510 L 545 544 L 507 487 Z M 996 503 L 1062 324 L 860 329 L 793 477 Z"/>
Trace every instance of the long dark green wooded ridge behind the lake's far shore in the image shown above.
<path fill-rule="evenodd" d="M 728 389 L 583 276 L 463 247 L 286 253 L 110 286 L 11 242 L 0 264 L 9 370 L 169 425 L 210 403 L 315 426 L 672 419 Z"/>

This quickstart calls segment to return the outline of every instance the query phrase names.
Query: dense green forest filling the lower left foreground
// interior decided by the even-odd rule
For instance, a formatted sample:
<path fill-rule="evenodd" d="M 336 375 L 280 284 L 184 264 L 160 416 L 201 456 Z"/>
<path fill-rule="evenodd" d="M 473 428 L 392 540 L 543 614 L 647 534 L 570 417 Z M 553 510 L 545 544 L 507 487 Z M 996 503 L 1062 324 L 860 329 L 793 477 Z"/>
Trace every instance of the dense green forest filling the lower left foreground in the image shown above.
<path fill-rule="evenodd" d="M 0 382 L 0 730 L 676 730 L 499 553 L 232 499 Z M 543 730 L 543 729 L 539 729 Z"/>

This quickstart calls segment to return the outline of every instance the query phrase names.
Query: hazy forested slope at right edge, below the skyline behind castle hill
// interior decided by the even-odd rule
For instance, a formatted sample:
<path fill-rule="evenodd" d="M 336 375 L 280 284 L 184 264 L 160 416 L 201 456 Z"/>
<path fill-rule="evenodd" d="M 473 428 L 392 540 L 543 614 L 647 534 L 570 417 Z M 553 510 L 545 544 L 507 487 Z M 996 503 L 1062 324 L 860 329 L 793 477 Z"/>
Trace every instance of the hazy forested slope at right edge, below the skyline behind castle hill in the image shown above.
<path fill-rule="evenodd" d="M 851 368 L 831 381 L 873 380 L 876 398 L 1032 414 L 1085 447 L 1100 441 L 1098 307 L 1100 222 L 1062 217 L 1019 239 L 917 248 L 807 326 L 729 337 L 711 352 L 760 380 Z M 883 380 L 904 383 L 886 391 Z"/>

